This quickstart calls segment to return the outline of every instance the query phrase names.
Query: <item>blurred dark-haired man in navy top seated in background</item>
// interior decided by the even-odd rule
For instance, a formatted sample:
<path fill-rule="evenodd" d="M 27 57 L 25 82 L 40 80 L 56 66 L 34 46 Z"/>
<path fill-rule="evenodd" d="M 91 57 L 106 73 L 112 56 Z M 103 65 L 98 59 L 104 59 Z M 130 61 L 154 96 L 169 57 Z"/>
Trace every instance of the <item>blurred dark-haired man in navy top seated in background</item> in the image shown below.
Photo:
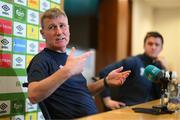
<path fill-rule="evenodd" d="M 102 99 L 108 109 L 117 109 L 125 105 L 135 105 L 160 98 L 160 86 L 149 81 L 143 76 L 144 68 L 154 65 L 160 69 L 166 69 L 166 61 L 159 57 L 163 49 L 164 39 L 158 32 L 148 32 L 144 38 L 144 53 L 128 57 L 122 61 L 105 67 L 99 77 L 103 78 L 108 73 L 120 66 L 124 70 L 131 70 L 123 86 L 119 88 L 107 88 L 102 92 Z"/>

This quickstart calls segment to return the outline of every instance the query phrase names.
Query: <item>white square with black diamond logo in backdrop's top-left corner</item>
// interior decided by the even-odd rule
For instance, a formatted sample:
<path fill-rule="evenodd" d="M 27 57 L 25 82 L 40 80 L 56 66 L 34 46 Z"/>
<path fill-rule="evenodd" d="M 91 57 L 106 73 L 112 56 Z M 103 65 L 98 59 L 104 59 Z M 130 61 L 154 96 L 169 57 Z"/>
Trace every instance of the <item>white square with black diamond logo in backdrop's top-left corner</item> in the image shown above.
<path fill-rule="evenodd" d="M 12 4 L 0 1 L 0 16 L 12 18 Z"/>

